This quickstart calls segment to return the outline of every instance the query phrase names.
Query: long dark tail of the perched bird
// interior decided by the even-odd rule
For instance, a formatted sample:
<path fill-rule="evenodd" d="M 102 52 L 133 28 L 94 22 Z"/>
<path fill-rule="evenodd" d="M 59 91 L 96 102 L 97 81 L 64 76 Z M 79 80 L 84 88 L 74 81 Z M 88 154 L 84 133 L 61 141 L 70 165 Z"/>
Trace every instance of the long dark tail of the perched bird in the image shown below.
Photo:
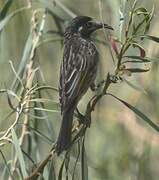
<path fill-rule="evenodd" d="M 59 155 L 62 151 L 67 150 L 71 143 L 71 131 L 74 108 L 70 108 L 63 113 L 60 133 L 57 139 L 56 152 Z"/>

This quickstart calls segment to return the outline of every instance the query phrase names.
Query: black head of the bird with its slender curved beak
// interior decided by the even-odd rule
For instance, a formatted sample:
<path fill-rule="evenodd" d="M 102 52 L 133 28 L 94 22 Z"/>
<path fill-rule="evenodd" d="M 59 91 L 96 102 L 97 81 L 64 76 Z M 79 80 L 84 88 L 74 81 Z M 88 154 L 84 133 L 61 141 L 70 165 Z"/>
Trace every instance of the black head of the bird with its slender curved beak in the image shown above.
<path fill-rule="evenodd" d="M 111 29 L 113 28 L 105 23 L 93 21 L 88 16 L 77 16 L 69 23 L 66 28 L 71 30 L 72 33 L 80 33 L 83 37 L 89 37 L 94 31 L 98 29 Z"/>

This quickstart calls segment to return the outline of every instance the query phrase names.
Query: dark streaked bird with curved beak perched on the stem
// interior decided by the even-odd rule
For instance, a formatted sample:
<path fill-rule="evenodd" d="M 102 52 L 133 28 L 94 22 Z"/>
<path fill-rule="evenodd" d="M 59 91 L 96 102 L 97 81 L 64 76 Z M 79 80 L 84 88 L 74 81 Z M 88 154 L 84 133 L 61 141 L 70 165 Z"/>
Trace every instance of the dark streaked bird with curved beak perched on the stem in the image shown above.
<path fill-rule="evenodd" d="M 99 55 L 91 34 L 102 28 L 113 30 L 111 26 L 93 21 L 88 16 L 73 18 L 65 28 L 59 78 L 62 123 L 56 142 L 58 155 L 69 148 L 74 111 L 82 96 L 94 84 Z"/>

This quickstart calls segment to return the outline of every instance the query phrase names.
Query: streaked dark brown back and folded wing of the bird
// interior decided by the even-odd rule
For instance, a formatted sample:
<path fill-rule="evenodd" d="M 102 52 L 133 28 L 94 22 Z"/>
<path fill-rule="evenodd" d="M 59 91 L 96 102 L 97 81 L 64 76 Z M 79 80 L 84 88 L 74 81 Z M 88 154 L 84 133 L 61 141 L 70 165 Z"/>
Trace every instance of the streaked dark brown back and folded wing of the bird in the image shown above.
<path fill-rule="evenodd" d="M 97 50 L 91 42 L 75 39 L 67 43 L 60 71 L 61 111 L 75 106 L 94 81 Z"/>

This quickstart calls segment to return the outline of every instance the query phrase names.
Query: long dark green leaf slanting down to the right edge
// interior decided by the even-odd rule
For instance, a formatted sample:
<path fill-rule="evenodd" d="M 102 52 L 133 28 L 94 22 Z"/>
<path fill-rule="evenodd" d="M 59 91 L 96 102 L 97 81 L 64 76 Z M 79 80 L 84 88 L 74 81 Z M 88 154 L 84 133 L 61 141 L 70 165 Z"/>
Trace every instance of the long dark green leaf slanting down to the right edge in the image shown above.
<path fill-rule="evenodd" d="M 148 123 L 153 129 L 155 129 L 157 132 L 159 132 L 159 126 L 155 124 L 153 121 L 151 121 L 144 113 L 142 113 L 140 110 L 138 110 L 136 107 L 128 104 L 127 102 L 123 101 L 122 99 L 116 97 L 115 95 L 111 93 L 107 93 L 106 95 L 110 95 L 123 103 L 126 107 L 131 109 L 137 116 L 139 116 L 142 120 L 144 120 L 146 123 Z"/>

